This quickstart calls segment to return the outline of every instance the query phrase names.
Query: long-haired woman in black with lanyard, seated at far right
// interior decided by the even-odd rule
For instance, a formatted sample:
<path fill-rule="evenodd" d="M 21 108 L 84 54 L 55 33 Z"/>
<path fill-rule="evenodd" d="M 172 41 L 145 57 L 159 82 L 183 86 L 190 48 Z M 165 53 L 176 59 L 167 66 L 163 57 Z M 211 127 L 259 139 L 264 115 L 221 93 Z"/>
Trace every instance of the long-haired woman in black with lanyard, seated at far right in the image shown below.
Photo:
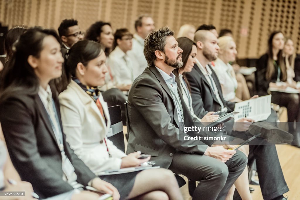
<path fill-rule="evenodd" d="M 283 59 L 284 36 L 280 31 L 271 33 L 268 39 L 268 51 L 257 61 L 256 71 L 256 89 L 257 93 L 262 96 L 266 95 L 268 88 L 277 88 L 284 90 L 290 86 L 287 80 L 286 65 Z M 294 135 L 294 144 L 300 142 L 300 130 L 294 121 L 298 122 L 300 117 L 300 98 L 299 94 L 291 94 L 280 91 L 272 91 L 272 103 L 287 108 L 289 133 Z M 299 127 L 297 129 L 297 127 Z"/>

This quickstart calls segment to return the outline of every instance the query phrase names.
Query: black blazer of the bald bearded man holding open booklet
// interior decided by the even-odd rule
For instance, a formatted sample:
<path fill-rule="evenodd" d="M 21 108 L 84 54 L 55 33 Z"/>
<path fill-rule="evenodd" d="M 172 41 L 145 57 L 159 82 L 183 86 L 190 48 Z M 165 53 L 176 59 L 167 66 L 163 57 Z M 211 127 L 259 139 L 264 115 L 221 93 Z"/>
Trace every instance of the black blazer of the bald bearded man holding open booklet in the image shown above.
<path fill-rule="evenodd" d="M 232 112 L 234 110 L 235 103 L 224 100 L 219 79 L 217 78 L 214 70 L 211 69 L 211 71 L 211 76 L 217 86 L 218 93 L 221 101 L 223 102 L 223 105 L 227 107 L 228 112 Z M 208 81 L 206 80 L 204 74 L 201 72 L 197 64 L 194 65 L 191 72 L 186 73 L 186 77 L 188 82 L 190 83 L 192 92 L 191 96 L 193 101 L 192 105 L 195 115 L 201 119 L 210 111 L 220 111 L 221 105 L 217 101 L 216 95 L 214 95 L 214 92 L 212 91 Z"/>

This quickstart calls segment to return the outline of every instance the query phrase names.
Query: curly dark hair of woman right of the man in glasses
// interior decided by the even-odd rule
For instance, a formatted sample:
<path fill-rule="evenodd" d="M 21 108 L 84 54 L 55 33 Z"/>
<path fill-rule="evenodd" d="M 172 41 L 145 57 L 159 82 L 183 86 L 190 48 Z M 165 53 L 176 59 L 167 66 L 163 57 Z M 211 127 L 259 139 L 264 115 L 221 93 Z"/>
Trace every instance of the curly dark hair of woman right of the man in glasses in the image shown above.
<path fill-rule="evenodd" d="M 109 22 L 103 22 L 103 21 L 98 21 L 98 22 L 95 22 L 94 24 L 92 24 L 86 31 L 85 39 L 100 43 L 100 39 L 98 40 L 97 37 L 100 37 L 100 34 L 103 32 L 102 27 L 104 25 L 109 25 L 111 27 Z M 110 48 L 105 48 L 104 52 L 106 55 L 109 55 L 111 50 L 112 49 L 110 49 Z"/>

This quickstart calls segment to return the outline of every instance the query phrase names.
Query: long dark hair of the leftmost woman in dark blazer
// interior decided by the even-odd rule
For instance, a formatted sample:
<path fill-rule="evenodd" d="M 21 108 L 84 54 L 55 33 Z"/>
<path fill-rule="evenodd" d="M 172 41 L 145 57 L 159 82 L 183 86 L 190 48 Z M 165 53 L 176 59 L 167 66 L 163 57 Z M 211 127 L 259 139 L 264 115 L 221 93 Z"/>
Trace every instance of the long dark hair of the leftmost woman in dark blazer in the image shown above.
<path fill-rule="evenodd" d="M 5 96 L 6 93 L 38 93 L 39 79 L 27 59 L 30 55 L 36 58 L 40 57 L 44 38 L 49 35 L 60 42 L 55 30 L 41 27 L 29 28 L 20 36 L 19 41 L 13 46 L 15 52 L 2 79 L 1 91 L 3 91 L 3 94 L 1 94 L 1 97 Z"/>

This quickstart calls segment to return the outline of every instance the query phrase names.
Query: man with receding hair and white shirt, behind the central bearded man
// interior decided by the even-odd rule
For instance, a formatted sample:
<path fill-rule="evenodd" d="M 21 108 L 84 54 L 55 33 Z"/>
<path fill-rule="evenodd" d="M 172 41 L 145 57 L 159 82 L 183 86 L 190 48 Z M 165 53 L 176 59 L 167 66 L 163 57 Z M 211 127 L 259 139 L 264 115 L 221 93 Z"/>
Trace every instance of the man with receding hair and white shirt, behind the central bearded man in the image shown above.
<path fill-rule="evenodd" d="M 140 73 L 147 67 L 147 61 L 143 54 L 144 40 L 147 35 L 155 29 L 154 21 L 149 15 L 141 15 L 134 23 L 137 31 L 132 40 L 132 52 L 139 62 Z"/>

